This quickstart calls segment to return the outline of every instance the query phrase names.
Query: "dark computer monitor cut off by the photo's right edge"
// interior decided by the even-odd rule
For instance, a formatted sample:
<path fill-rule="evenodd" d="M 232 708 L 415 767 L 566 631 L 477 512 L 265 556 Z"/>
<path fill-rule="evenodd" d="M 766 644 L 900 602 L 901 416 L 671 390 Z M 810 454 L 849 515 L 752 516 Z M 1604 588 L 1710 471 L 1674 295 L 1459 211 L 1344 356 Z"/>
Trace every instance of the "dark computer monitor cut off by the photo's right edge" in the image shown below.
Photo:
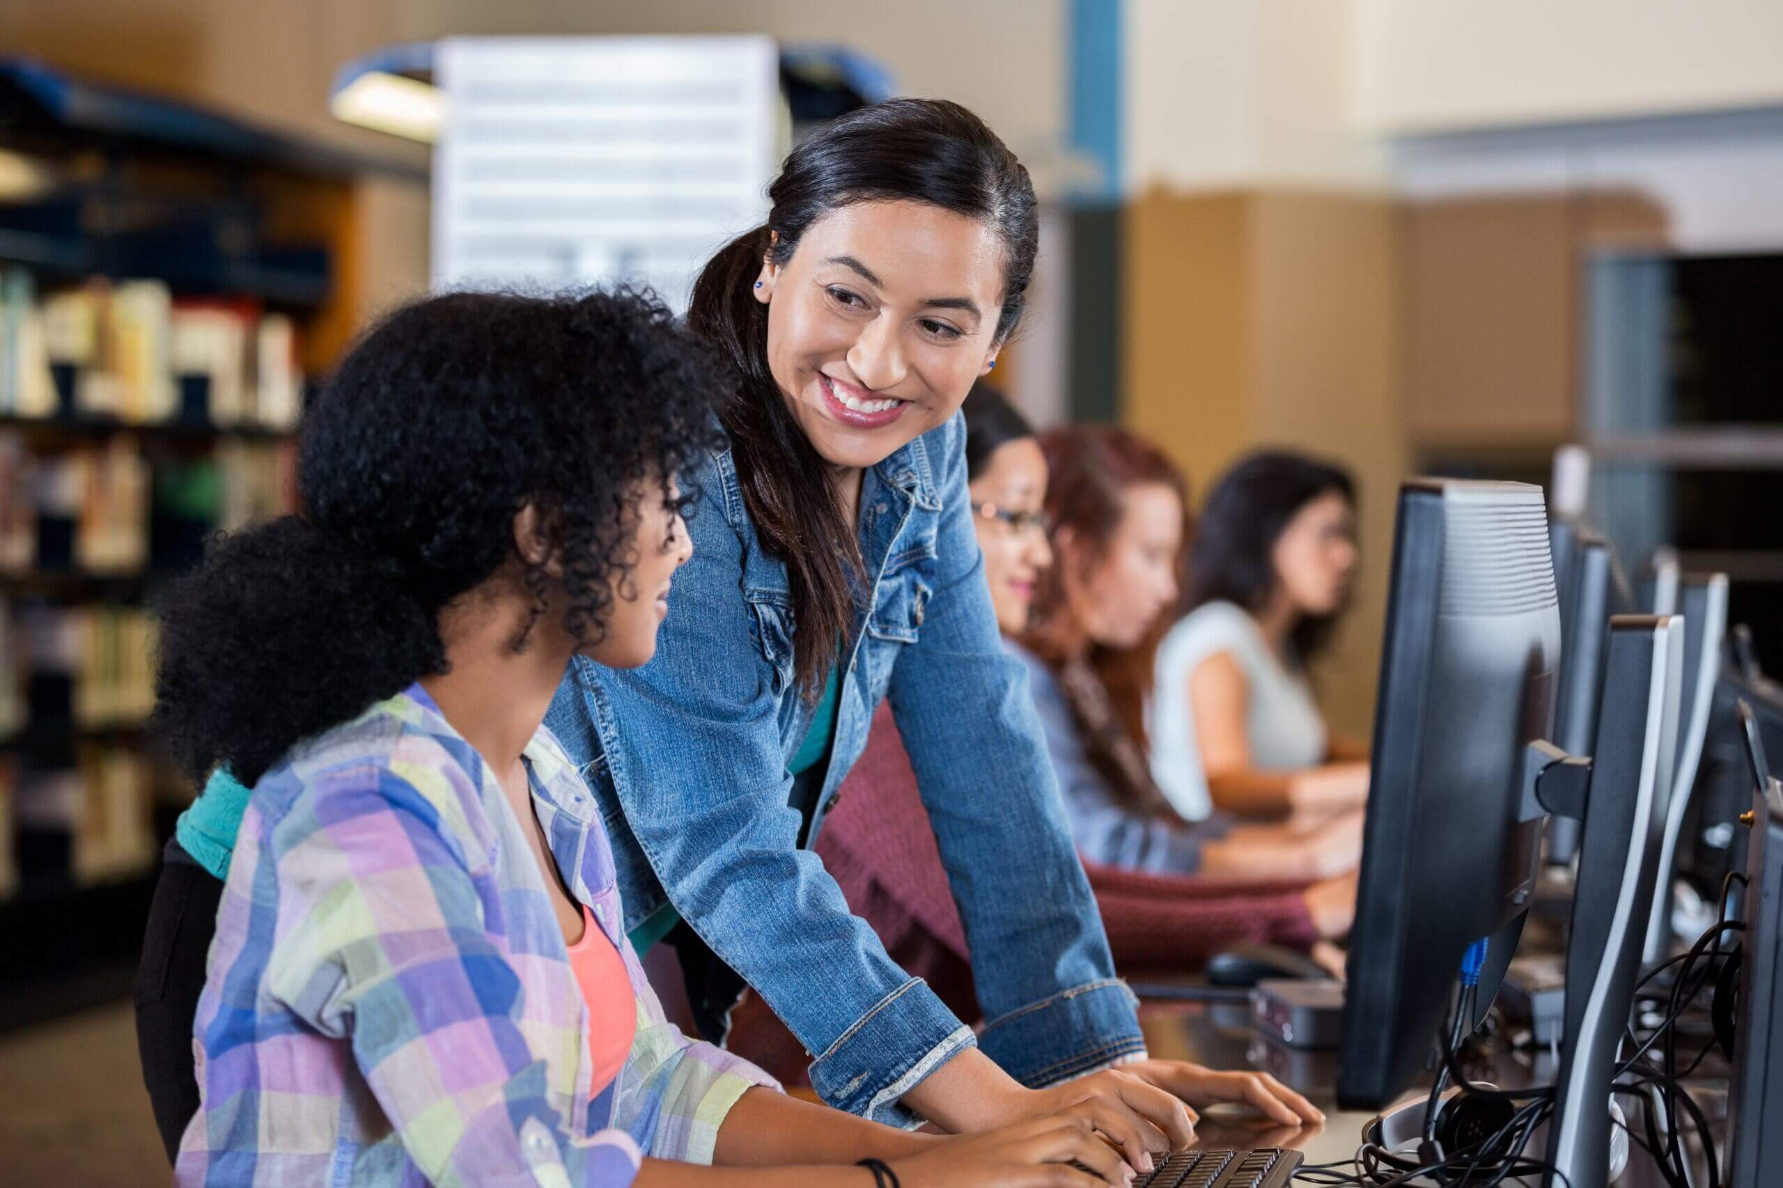
<path fill-rule="evenodd" d="M 1733 1072 L 1728 1079 L 1728 1183 L 1783 1183 L 1783 792 L 1765 762 L 1758 717 L 1738 714 L 1746 751 L 1747 808 L 1746 935 L 1733 1011 Z"/>

